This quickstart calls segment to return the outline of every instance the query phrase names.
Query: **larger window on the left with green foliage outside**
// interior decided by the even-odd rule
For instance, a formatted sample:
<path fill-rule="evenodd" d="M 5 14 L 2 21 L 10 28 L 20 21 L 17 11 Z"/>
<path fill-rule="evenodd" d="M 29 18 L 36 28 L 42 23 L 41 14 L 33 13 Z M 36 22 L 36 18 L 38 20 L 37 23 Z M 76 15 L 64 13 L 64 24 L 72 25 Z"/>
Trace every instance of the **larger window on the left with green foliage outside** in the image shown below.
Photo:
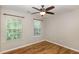
<path fill-rule="evenodd" d="M 21 19 L 18 17 L 7 16 L 7 40 L 20 39 L 22 33 Z"/>

